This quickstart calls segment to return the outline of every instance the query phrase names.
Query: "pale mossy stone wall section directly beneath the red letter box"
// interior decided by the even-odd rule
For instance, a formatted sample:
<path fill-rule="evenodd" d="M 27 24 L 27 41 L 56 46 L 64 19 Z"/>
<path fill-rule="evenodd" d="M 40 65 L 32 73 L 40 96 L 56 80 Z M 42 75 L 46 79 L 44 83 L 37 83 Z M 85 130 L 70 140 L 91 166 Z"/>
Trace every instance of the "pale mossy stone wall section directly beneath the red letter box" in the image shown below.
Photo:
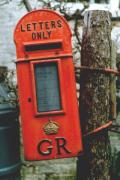
<path fill-rule="evenodd" d="M 24 162 L 21 180 L 75 180 L 76 158 Z"/>

